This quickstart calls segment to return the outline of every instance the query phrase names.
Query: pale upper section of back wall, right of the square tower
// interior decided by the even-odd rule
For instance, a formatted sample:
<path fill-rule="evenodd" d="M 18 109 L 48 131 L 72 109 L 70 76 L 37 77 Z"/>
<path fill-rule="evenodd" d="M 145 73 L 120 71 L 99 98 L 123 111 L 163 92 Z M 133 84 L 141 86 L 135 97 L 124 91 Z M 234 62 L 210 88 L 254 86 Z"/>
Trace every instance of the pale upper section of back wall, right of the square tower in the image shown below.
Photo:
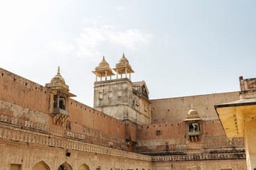
<path fill-rule="evenodd" d="M 218 120 L 214 105 L 237 101 L 239 99 L 239 92 L 230 92 L 150 100 L 152 108 L 151 120 L 152 123 L 182 122 L 186 119 L 186 114 L 191 108 L 191 103 L 193 103 L 193 108 L 198 111 L 198 114 L 203 120 Z"/>

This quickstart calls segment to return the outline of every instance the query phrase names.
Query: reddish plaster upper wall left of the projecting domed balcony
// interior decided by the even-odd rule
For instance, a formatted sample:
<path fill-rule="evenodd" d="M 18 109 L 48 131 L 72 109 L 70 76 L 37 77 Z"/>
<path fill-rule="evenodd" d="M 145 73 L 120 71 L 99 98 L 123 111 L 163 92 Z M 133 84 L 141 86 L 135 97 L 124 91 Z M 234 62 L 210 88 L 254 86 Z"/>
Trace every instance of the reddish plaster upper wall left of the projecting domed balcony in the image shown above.
<path fill-rule="evenodd" d="M 0 68 L 0 100 L 49 113 L 50 89 Z M 1 112 L 4 112 L 2 110 Z M 9 113 L 12 114 L 12 113 Z"/>

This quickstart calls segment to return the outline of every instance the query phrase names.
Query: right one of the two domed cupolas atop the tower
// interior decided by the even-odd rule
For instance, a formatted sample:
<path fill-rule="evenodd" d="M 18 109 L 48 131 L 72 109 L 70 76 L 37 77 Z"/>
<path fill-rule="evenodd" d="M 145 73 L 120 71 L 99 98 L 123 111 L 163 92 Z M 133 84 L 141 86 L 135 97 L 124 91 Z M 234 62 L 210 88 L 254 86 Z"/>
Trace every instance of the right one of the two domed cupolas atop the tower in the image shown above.
<path fill-rule="evenodd" d="M 131 79 L 131 73 L 134 73 L 134 71 L 132 70 L 132 67 L 130 66 L 127 58 L 124 56 L 124 53 L 122 58 L 116 64 L 116 67 L 114 68 L 114 72 L 117 72 L 117 79 L 118 79 L 118 74 L 121 74 L 121 79 L 122 79 L 122 74 L 125 74 L 125 78 L 127 78 L 127 73 L 129 73 L 129 79 Z"/>

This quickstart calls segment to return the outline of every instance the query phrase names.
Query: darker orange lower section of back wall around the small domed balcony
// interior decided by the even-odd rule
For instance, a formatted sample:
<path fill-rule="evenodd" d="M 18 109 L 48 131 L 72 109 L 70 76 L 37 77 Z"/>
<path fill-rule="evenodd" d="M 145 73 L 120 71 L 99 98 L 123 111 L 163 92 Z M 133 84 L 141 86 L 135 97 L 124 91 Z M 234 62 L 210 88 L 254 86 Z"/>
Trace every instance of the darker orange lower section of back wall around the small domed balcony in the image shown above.
<path fill-rule="evenodd" d="M 189 142 L 186 123 L 138 125 L 137 152 L 155 154 L 166 151 L 187 153 L 193 148 L 200 152 L 244 149 L 242 138 L 228 139 L 225 136 L 219 120 L 203 121 L 201 127 L 200 141 Z"/>

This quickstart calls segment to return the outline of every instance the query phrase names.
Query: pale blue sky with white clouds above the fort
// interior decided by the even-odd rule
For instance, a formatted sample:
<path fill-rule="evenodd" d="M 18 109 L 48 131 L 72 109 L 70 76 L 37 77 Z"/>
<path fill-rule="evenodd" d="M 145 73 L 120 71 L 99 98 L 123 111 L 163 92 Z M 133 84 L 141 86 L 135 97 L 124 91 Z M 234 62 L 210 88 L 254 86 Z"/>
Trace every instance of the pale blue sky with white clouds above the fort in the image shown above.
<path fill-rule="evenodd" d="M 124 52 L 149 98 L 239 91 L 256 77 L 256 1 L 0 1 L 0 67 L 45 85 L 57 73 L 93 106 L 92 71 Z"/>

